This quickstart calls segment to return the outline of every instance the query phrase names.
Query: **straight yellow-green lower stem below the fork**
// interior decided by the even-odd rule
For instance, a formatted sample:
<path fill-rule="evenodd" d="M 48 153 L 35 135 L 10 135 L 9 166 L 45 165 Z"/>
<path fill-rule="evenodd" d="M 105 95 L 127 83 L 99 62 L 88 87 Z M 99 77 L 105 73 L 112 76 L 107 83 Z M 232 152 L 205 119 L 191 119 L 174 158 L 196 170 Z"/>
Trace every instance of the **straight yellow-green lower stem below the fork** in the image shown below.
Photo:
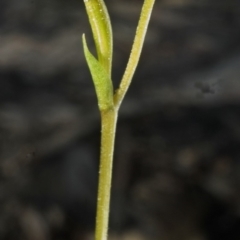
<path fill-rule="evenodd" d="M 106 240 L 109 219 L 112 163 L 118 111 L 101 111 L 101 153 L 95 240 Z"/>

